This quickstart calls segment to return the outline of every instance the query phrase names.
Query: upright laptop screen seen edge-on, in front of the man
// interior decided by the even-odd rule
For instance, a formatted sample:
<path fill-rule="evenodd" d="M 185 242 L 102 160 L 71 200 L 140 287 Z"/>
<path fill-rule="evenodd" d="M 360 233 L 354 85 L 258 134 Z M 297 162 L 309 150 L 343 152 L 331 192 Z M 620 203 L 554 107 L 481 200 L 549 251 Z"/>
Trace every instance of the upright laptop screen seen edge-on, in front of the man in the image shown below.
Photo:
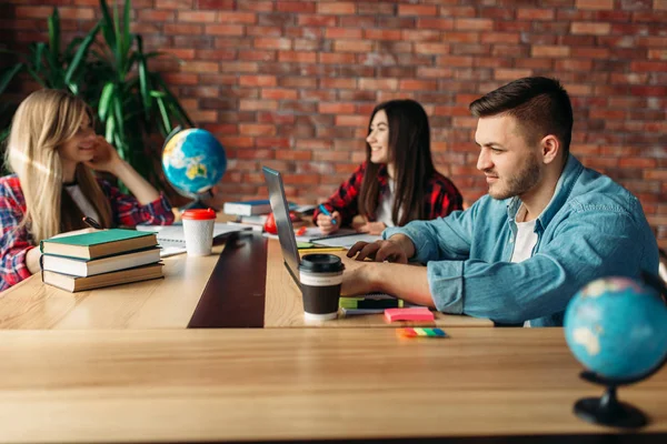
<path fill-rule="evenodd" d="M 292 226 L 291 219 L 289 218 L 289 208 L 285 196 L 282 178 L 278 171 L 268 167 L 263 167 L 262 171 L 269 188 L 269 201 L 271 202 L 271 211 L 273 212 L 273 218 L 276 219 L 276 228 L 278 229 L 278 240 L 280 241 L 280 249 L 282 250 L 282 259 L 287 270 L 289 271 L 289 274 L 292 276 L 296 284 L 300 286 L 299 250 L 297 248 L 295 229 Z"/>

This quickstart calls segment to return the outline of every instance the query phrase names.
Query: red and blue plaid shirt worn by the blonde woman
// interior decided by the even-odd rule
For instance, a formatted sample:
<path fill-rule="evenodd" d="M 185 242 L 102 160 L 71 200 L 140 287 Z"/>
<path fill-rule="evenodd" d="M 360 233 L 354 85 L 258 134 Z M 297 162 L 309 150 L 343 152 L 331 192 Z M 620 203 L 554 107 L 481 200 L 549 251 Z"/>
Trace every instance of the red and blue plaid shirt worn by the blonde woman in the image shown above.
<path fill-rule="evenodd" d="M 101 179 L 98 182 L 111 204 L 115 225 L 136 226 L 169 225 L 173 222 L 171 205 L 163 195 L 141 206 L 137 199 L 122 194 L 116 186 Z M 34 248 L 26 228 L 18 229 L 26 213 L 26 198 L 16 174 L 0 178 L 0 291 L 30 276 L 26 253 Z"/>

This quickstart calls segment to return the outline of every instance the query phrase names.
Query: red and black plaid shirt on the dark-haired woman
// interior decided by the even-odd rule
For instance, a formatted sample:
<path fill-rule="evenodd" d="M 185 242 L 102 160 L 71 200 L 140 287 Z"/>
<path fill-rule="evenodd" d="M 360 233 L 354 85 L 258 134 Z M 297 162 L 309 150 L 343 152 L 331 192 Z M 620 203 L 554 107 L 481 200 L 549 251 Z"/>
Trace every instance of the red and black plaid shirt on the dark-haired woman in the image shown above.
<path fill-rule="evenodd" d="M 358 214 L 357 196 L 361 190 L 361 181 L 366 172 L 367 162 L 364 162 L 338 190 L 323 204 L 330 212 L 338 211 L 342 219 L 341 225 L 349 224 L 352 218 Z M 378 182 L 380 183 L 380 194 L 389 186 L 389 174 L 387 167 L 384 165 L 378 172 Z M 462 209 L 462 196 L 454 185 L 454 183 L 440 174 L 435 172 L 426 185 L 426 194 L 424 195 L 424 212 L 427 220 L 437 219 L 451 213 L 455 210 Z M 317 222 L 317 215 L 320 213 L 316 209 L 312 221 Z M 371 214 L 369 220 L 376 220 L 376 214 Z"/>

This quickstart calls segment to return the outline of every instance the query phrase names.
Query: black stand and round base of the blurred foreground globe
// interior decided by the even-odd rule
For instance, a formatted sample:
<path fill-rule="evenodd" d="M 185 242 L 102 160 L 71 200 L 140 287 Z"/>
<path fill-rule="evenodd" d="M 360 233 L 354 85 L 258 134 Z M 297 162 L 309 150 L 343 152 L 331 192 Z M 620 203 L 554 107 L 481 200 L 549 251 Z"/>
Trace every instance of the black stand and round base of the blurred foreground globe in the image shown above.
<path fill-rule="evenodd" d="M 648 424 L 644 412 L 616 397 L 617 386 L 625 385 L 626 382 L 608 380 L 594 372 L 581 372 L 580 377 L 594 384 L 607 386 L 601 397 L 585 397 L 575 403 L 575 414 L 581 420 L 623 428 L 637 428 Z"/>

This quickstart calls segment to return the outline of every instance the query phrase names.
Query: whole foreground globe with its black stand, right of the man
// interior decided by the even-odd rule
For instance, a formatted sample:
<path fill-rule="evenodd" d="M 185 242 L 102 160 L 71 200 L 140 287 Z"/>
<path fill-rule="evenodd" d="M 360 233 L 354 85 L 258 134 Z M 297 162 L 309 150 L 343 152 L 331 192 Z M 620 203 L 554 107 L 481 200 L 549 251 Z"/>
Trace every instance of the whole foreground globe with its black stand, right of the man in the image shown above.
<path fill-rule="evenodd" d="M 655 287 L 656 282 L 650 279 L 648 285 L 628 278 L 599 279 L 569 302 L 565 339 L 588 369 L 581 377 L 608 387 L 601 398 L 575 404 L 581 418 L 621 427 L 647 423 L 641 411 L 616 400 L 616 387 L 647 379 L 667 360 L 667 306 L 660 297 L 664 285 Z"/>

